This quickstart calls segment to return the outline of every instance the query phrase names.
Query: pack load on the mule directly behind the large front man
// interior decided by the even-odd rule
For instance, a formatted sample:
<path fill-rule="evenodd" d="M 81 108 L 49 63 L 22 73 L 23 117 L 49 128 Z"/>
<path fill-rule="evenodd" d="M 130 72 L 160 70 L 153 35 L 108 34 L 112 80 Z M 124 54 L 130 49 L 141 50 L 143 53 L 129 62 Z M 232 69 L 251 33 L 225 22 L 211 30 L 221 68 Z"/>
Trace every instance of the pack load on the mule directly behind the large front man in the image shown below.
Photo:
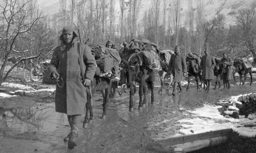
<path fill-rule="evenodd" d="M 100 45 L 89 45 L 95 56 L 97 67 L 100 68 L 100 77 L 112 80 L 120 80 L 121 58 L 115 49 L 102 47 Z"/>

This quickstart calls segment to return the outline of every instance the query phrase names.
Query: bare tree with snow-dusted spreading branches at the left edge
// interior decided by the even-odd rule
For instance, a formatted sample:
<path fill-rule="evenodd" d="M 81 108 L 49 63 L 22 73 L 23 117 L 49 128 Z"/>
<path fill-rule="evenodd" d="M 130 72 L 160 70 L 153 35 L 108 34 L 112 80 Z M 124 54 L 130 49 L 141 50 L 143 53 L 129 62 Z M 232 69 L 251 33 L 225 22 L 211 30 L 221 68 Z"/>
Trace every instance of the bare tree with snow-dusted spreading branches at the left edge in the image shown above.
<path fill-rule="evenodd" d="M 32 31 L 37 28 L 39 24 L 42 24 L 40 20 L 44 18 L 42 12 L 36 8 L 33 10 L 29 7 L 32 0 L 26 0 L 20 2 L 19 0 L 6 0 L 1 3 L 0 7 L 0 41 L 2 42 L 2 48 L 0 50 L 3 55 L 3 63 L 0 68 L 0 84 L 9 77 L 10 72 L 19 64 L 30 59 L 35 59 L 40 56 L 42 51 L 48 47 L 44 47 L 36 52 L 35 55 L 29 55 L 19 59 L 6 73 L 4 70 L 8 65 L 8 57 L 12 53 L 27 53 L 30 52 L 34 47 L 26 46 L 24 42 L 32 41 Z M 31 5 L 30 5 L 31 6 Z M 34 12 L 33 15 L 31 11 Z M 31 32 L 31 33 L 30 33 Z M 38 36 L 39 37 L 39 36 Z M 33 37 L 37 39 L 37 37 Z M 23 43 L 21 43 L 23 42 Z M 16 43 L 23 44 L 17 45 Z M 34 52 L 30 52 L 31 54 Z"/>

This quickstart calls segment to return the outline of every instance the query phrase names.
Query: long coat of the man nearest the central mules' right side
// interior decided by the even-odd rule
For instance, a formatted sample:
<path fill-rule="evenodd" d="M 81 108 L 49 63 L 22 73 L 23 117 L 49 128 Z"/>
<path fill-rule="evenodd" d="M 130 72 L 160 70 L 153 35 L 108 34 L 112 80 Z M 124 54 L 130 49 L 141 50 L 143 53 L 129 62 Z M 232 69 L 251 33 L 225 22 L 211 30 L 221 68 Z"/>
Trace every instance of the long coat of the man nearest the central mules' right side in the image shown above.
<path fill-rule="evenodd" d="M 185 57 L 181 54 L 172 54 L 168 66 L 168 71 L 170 70 L 172 70 L 174 82 L 180 82 L 183 77 L 183 72 L 187 72 L 187 64 Z"/>

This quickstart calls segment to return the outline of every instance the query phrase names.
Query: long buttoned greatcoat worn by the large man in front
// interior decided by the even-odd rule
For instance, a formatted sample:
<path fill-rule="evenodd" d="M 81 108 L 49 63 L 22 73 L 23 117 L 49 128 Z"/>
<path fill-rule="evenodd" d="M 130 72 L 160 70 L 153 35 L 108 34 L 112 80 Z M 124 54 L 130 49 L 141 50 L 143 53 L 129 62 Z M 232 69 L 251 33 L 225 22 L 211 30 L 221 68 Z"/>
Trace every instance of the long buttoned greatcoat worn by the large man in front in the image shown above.
<path fill-rule="evenodd" d="M 96 71 L 96 61 L 92 56 L 90 47 L 79 43 L 79 51 L 82 57 L 82 69 L 85 78 L 93 80 Z M 60 80 L 56 86 L 55 110 L 67 115 L 79 115 L 84 113 L 86 103 L 86 87 L 82 83 L 81 70 L 78 61 L 78 42 L 74 40 L 71 47 L 57 47 L 52 55 L 49 65 L 50 74 L 57 71 Z M 62 86 L 63 87 L 60 87 Z"/>

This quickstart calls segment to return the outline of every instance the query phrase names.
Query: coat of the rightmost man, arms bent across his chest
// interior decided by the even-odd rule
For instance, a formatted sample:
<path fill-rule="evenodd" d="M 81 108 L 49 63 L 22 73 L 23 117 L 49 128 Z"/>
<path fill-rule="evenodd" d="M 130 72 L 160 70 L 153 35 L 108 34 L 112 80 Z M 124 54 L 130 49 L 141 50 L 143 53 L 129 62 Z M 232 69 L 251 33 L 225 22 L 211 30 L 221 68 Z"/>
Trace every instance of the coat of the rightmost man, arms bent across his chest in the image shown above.
<path fill-rule="evenodd" d="M 220 76 L 223 80 L 233 80 L 233 71 L 232 66 L 234 64 L 234 61 L 228 57 L 227 59 L 222 58 L 220 60 L 220 63 L 222 64 L 222 75 Z"/>

